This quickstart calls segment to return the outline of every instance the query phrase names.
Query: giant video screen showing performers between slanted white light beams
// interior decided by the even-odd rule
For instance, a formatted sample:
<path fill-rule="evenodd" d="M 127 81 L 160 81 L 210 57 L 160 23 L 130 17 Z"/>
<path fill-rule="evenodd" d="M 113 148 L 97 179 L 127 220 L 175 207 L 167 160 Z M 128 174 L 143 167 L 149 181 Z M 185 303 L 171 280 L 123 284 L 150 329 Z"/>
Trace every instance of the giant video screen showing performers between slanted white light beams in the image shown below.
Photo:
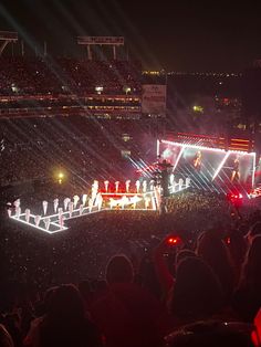
<path fill-rule="evenodd" d="M 158 151 L 160 159 L 173 166 L 177 177 L 190 177 L 195 187 L 218 186 L 229 191 L 236 185 L 252 186 L 254 154 L 165 140 L 159 141 Z"/>

